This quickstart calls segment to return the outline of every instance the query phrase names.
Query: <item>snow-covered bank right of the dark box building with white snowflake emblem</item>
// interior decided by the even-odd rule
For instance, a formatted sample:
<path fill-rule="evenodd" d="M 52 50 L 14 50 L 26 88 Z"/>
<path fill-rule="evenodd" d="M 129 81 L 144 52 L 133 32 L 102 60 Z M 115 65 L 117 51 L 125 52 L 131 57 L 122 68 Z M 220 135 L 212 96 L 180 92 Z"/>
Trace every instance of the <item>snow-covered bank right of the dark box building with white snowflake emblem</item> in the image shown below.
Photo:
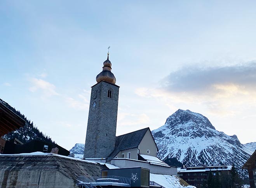
<path fill-rule="evenodd" d="M 181 185 L 180 180 L 178 176 L 150 173 L 150 181 L 155 181 L 165 188 L 185 188 L 186 186 Z"/>

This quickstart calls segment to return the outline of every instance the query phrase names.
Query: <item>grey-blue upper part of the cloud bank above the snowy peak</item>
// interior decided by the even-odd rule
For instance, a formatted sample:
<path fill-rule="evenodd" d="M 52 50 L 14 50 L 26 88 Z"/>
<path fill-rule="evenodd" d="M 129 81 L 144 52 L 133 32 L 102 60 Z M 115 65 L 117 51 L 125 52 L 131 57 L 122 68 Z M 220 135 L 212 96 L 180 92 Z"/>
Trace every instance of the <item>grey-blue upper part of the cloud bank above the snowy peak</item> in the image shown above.
<path fill-rule="evenodd" d="M 256 63 L 208 68 L 183 67 L 164 78 L 162 83 L 162 88 L 171 92 L 234 91 L 236 87 L 240 91 L 256 86 Z"/>

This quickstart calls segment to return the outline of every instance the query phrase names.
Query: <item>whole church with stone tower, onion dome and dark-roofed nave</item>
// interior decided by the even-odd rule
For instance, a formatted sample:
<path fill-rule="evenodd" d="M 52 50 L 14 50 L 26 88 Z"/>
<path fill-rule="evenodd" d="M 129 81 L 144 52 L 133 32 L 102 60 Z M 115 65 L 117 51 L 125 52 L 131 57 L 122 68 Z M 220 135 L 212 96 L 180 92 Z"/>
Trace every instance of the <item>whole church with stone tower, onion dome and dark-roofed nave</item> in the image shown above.
<path fill-rule="evenodd" d="M 111 65 L 108 53 L 97 84 L 92 86 L 84 158 L 157 157 L 158 148 L 149 128 L 116 136 L 119 86 Z"/>

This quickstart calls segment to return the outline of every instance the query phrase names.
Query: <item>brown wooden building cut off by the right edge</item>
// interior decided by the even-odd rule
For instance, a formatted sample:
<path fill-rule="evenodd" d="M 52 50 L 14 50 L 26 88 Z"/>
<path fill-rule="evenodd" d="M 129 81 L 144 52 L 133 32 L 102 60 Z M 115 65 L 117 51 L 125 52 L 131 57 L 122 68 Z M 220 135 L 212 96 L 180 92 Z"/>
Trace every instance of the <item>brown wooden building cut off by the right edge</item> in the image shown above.
<path fill-rule="evenodd" d="M 242 169 L 247 169 L 249 174 L 250 187 L 256 188 L 256 150 L 247 160 Z"/>

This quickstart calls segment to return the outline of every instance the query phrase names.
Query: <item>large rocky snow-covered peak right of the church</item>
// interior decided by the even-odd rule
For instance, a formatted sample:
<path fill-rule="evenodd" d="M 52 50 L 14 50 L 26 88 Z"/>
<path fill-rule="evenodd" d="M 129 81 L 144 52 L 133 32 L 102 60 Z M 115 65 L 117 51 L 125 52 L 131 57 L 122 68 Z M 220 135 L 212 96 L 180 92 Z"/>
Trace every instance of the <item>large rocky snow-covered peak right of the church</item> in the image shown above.
<path fill-rule="evenodd" d="M 206 117 L 190 110 L 179 109 L 152 134 L 159 158 L 174 158 L 186 166 L 234 164 L 240 169 L 252 153 L 236 135 L 217 131 Z"/>

